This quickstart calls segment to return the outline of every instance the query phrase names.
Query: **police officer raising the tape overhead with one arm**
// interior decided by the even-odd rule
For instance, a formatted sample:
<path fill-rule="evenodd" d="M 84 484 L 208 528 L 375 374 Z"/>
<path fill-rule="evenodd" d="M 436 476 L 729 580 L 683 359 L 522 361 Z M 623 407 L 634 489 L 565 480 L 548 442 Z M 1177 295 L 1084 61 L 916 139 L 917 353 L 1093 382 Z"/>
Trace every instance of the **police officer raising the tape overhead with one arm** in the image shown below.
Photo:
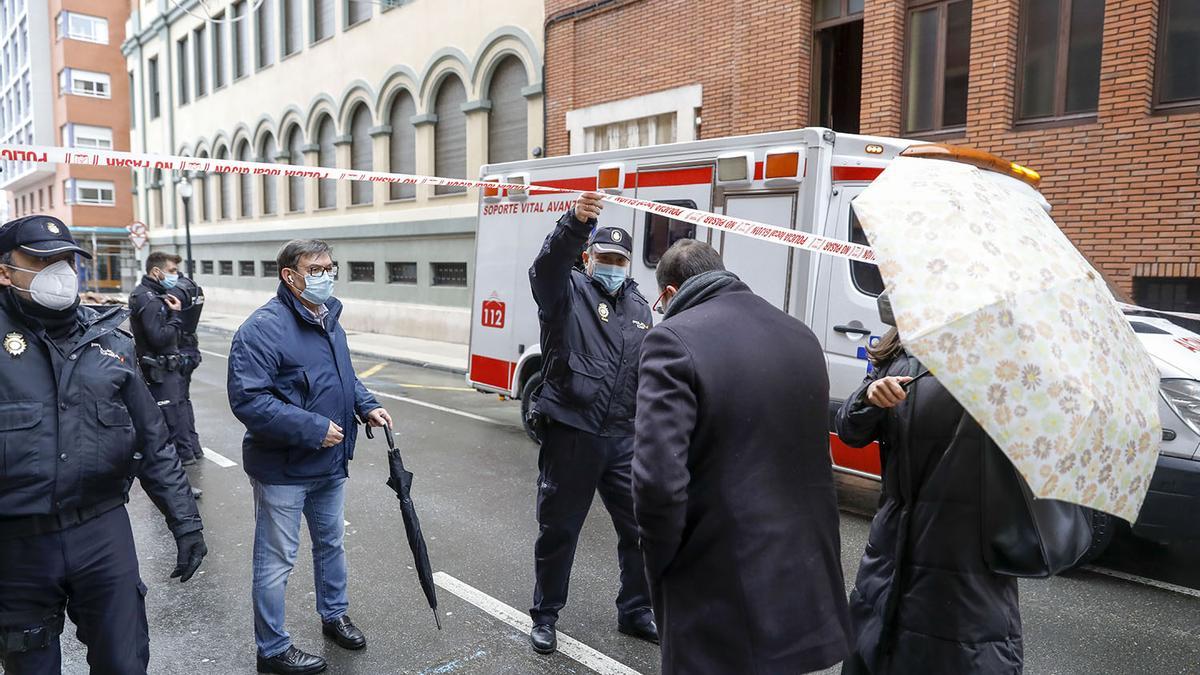
<path fill-rule="evenodd" d="M 617 528 L 617 628 L 658 643 L 634 520 L 634 412 L 650 307 L 629 277 L 632 240 L 598 227 L 600 195 L 582 195 L 550 233 L 529 269 L 541 322 L 538 540 L 534 544 L 534 651 L 557 649 L 554 623 L 580 530 L 599 490 Z M 582 258 L 581 258 L 582 256 Z M 582 259 L 582 270 L 575 263 Z"/>

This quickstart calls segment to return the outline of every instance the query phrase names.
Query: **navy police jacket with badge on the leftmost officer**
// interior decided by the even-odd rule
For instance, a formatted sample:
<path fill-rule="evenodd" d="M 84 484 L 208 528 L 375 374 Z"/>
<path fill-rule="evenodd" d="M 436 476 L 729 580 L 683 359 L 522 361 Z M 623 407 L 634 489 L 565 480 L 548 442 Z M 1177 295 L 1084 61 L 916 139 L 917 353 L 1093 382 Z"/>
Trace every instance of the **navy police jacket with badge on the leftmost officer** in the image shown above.
<path fill-rule="evenodd" d="M 124 309 L 80 306 L 62 348 L 0 291 L 0 518 L 128 494 L 136 476 L 176 537 L 202 528 L 167 425 L 137 371 Z"/>

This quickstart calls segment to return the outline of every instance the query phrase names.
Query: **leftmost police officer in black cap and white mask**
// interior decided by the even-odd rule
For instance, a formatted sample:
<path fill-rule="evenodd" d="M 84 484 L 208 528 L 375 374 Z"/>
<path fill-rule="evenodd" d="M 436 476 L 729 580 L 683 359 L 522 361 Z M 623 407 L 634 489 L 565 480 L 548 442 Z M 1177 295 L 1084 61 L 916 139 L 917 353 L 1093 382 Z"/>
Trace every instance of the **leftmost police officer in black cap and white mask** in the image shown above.
<path fill-rule="evenodd" d="M 64 613 L 92 673 L 145 673 L 145 586 L 125 502 L 133 478 L 167 518 L 191 579 L 208 552 L 187 477 L 119 328 L 79 305 L 62 221 L 0 226 L 0 662 L 59 673 Z"/>

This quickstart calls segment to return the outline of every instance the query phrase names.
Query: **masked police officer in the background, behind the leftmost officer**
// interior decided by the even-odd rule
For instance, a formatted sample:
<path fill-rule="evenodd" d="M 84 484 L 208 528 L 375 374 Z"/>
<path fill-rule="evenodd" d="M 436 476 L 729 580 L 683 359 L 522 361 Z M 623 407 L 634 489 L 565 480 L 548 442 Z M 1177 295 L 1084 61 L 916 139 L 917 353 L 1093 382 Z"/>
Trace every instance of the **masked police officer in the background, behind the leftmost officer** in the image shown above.
<path fill-rule="evenodd" d="M 184 402 L 188 378 L 184 376 L 186 360 L 180 353 L 180 344 L 186 317 L 182 301 L 169 292 L 179 283 L 180 261 L 179 256 L 164 251 L 154 251 L 146 257 L 146 273 L 130 294 L 130 325 L 138 365 L 167 420 L 170 442 L 184 466 L 191 466 L 198 458 L 191 446 L 188 408 Z M 198 489 L 192 494 L 202 495 Z"/>

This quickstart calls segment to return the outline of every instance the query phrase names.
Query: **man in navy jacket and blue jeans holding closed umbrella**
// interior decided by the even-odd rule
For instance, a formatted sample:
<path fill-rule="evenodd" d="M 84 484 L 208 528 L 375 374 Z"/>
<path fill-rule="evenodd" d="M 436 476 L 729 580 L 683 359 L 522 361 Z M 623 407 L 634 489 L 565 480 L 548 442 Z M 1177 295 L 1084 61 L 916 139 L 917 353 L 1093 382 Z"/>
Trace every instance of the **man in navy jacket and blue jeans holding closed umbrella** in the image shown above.
<path fill-rule="evenodd" d="M 325 670 L 325 659 L 296 649 L 283 628 L 300 515 L 313 540 L 323 632 L 362 649 L 366 638 L 346 614 L 344 486 L 355 418 L 383 426 L 391 417 L 354 375 L 329 244 L 288 241 L 277 261 L 275 298 L 246 319 L 229 350 L 229 406 L 246 425 L 242 462 L 254 489 L 258 670 L 307 675 Z"/>

